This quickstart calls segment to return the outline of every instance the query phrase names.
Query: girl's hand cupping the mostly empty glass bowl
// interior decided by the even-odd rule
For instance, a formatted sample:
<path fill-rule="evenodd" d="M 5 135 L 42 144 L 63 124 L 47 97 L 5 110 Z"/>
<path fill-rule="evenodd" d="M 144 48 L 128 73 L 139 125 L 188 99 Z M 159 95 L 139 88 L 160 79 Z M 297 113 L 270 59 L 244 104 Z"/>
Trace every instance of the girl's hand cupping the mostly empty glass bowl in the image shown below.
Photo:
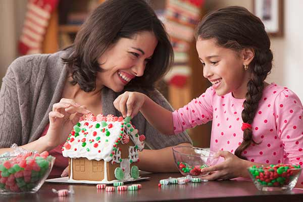
<path fill-rule="evenodd" d="M 229 151 L 218 151 L 220 157 L 225 159 L 217 165 L 201 169 L 201 173 L 211 172 L 211 174 L 203 176 L 203 179 L 218 180 L 231 179 L 236 177 L 247 177 L 247 161 L 242 160 L 230 153 Z"/>

